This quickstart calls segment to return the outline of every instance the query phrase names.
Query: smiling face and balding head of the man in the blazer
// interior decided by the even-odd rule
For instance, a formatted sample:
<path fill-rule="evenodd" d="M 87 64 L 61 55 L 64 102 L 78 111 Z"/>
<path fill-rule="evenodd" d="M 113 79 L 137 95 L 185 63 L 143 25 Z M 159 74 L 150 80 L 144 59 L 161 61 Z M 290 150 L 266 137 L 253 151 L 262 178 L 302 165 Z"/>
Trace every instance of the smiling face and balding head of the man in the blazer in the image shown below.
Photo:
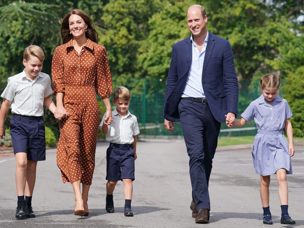
<path fill-rule="evenodd" d="M 187 13 L 188 29 L 193 36 L 200 36 L 206 31 L 207 16 L 202 16 L 198 7 L 192 7 Z"/>

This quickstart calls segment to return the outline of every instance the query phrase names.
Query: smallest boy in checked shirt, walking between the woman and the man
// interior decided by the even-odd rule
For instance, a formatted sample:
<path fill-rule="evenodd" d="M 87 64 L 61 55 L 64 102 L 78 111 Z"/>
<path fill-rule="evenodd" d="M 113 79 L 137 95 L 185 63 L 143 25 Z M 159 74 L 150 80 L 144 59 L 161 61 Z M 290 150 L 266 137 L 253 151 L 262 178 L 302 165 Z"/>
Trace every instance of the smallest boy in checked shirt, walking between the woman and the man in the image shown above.
<path fill-rule="evenodd" d="M 128 110 L 131 100 L 130 91 L 119 86 L 113 93 L 113 104 L 116 109 L 112 111 L 111 125 L 105 124 L 105 116 L 99 128 L 105 134 L 105 139 L 110 143 L 107 149 L 107 196 L 105 198 L 105 209 L 114 212 L 113 191 L 118 180 L 123 181 L 125 195 L 125 216 L 133 216 L 131 200 L 134 181 L 134 161 L 136 155 L 136 142 L 139 127 L 136 116 Z M 108 120 L 109 123 L 109 120 Z"/>

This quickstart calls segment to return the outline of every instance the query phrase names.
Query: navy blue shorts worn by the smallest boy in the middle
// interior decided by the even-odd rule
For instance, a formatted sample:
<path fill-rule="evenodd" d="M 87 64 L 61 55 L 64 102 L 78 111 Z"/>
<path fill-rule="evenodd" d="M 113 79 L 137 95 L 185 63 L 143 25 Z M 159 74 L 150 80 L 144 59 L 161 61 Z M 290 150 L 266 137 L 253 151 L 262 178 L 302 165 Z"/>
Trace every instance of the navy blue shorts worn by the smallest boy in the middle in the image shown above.
<path fill-rule="evenodd" d="M 134 149 L 132 144 L 110 143 L 107 149 L 107 176 L 108 181 L 122 179 L 135 180 L 134 176 Z"/>

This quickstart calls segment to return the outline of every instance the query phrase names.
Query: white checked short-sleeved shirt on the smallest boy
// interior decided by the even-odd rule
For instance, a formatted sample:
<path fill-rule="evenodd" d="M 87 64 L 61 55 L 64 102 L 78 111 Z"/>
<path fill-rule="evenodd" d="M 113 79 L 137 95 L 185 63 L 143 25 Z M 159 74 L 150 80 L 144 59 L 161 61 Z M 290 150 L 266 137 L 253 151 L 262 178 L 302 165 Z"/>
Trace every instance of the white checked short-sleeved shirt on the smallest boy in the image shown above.
<path fill-rule="evenodd" d="M 103 115 L 99 129 L 102 128 L 106 113 Z M 139 134 L 137 118 L 127 110 L 126 116 L 120 116 L 117 110 L 112 111 L 112 123 L 108 126 L 109 131 L 105 135 L 105 140 L 109 143 L 132 144 L 133 136 Z"/>

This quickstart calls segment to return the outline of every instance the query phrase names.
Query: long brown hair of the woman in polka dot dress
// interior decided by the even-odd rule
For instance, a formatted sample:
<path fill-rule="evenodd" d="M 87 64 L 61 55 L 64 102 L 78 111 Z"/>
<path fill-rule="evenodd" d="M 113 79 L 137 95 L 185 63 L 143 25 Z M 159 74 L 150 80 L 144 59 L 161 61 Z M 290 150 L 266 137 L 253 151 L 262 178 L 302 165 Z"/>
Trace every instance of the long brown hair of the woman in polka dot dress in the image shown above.
<path fill-rule="evenodd" d="M 92 22 L 91 17 L 88 16 L 82 10 L 73 9 L 60 22 L 60 24 L 61 24 L 60 33 L 61 33 L 61 38 L 62 38 L 62 44 L 69 42 L 73 38 L 73 35 L 70 33 L 70 28 L 69 28 L 69 18 L 72 14 L 76 14 L 76 15 L 80 16 L 87 24 L 88 28 L 86 29 L 85 37 L 87 37 L 88 39 L 92 40 L 95 43 L 98 43 L 98 34 L 96 32 L 96 29 Z"/>

